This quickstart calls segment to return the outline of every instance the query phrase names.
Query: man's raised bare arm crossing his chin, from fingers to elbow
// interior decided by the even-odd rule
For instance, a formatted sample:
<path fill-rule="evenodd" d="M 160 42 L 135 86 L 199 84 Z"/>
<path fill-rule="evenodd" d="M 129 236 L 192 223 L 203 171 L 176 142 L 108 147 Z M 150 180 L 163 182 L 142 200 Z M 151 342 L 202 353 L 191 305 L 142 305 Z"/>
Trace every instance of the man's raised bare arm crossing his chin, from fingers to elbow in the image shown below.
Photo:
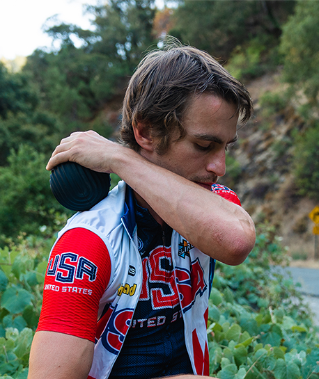
<path fill-rule="evenodd" d="M 212 258 L 240 264 L 254 247 L 254 223 L 244 209 L 93 131 L 62 140 L 47 169 L 64 161 L 115 172 L 168 225 Z"/>

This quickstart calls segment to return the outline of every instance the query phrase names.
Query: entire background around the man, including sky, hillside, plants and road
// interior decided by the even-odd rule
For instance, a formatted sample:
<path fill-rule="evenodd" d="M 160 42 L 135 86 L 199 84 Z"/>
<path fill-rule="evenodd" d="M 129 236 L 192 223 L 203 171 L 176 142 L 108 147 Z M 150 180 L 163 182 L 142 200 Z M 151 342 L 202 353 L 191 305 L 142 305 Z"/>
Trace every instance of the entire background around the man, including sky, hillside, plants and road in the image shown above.
<path fill-rule="evenodd" d="M 217 58 L 255 109 L 220 182 L 254 218 L 256 246 L 217 264 L 210 374 L 318 379 L 319 0 L 0 0 L 0 35 L 0 379 L 27 377 L 47 258 L 72 214 L 47 160 L 73 131 L 116 140 L 134 68 L 169 35 Z"/>

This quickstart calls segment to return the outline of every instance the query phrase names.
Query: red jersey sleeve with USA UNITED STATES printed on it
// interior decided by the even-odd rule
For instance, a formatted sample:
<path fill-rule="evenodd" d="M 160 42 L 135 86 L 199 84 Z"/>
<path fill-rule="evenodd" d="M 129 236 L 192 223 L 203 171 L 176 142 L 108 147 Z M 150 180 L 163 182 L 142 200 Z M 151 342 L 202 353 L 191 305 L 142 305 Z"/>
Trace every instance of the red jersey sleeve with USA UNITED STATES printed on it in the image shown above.
<path fill-rule="evenodd" d="M 111 274 L 109 252 L 87 229 L 65 232 L 49 257 L 37 330 L 95 341 L 98 307 Z"/>

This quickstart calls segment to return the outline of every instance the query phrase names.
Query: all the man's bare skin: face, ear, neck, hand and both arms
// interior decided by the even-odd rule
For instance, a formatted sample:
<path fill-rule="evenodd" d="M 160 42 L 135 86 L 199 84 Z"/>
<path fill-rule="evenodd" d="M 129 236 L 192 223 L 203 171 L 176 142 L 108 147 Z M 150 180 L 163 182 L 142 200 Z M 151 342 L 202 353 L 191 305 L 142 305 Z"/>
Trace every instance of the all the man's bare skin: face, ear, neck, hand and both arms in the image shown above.
<path fill-rule="evenodd" d="M 185 113 L 185 137 L 173 138 L 163 155 L 157 153 L 158 140 L 141 122 L 134 128 L 140 154 L 93 131 L 74 133 L 56 147 L 47 170 L 76 161 L 92 170 L 115 172 L 161 225 L 170 225 L 210 257 L 240 264 L 254 247 L 254 223 L 244 209 L 208 191 L 225 174 L 225 151 L 237 138 L 237 122 L 233 104 L 201 94 L 192 99 Z M 85 379 L 92 357 L 90 341 L 37 332 L 29 379 Z"/>

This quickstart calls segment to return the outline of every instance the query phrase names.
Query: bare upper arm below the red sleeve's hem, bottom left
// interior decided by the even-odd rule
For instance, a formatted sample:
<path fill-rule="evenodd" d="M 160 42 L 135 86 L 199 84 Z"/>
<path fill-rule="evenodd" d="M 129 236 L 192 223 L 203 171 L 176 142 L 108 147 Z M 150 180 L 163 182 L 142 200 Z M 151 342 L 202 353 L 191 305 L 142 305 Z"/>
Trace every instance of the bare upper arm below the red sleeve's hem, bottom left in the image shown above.
<path fill-rule="evenodd" d="M 30 353 L 28 379 L 86 379 L 94 344 L 57 332 L 36 332 Z"/>

